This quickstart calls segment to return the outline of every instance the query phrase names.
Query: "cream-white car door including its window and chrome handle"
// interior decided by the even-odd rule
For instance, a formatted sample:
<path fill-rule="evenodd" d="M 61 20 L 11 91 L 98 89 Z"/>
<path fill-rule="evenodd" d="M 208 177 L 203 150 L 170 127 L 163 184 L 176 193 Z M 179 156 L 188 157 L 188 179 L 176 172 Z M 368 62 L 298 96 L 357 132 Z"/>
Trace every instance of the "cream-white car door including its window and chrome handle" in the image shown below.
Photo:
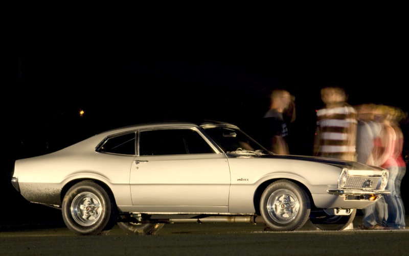
<path fill-rule="evenodd" d="M 142 130 L 130 175 L 141 212 L 228 212 L 230 170 L 197 128 Z"/>

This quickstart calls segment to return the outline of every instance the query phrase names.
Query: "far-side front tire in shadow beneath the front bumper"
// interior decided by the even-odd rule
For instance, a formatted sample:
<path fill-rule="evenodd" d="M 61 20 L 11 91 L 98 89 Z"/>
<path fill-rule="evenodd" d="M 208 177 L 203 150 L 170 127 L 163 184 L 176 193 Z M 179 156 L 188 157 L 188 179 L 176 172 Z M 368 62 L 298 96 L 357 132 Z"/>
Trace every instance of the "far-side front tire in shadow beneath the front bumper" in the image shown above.
<path fill-rule="evenodd" d="M 355 218 L 356 209 L 352 209 L 350 215 L 339 215 L 339 216 L 325 216 L 322 218 L 310 218 L 310 221 L 314 226 L 321 230 L 343 230 Z"/>

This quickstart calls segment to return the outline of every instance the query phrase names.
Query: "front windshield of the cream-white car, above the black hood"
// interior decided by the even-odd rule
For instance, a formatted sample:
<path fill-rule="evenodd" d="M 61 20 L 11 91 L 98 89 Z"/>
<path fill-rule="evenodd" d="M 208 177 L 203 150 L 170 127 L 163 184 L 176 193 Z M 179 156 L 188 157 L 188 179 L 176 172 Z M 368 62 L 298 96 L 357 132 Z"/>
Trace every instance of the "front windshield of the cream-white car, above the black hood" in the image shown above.
<path fill-rule="evenodd" d="M 253 138 L 234 127 L 203 127 L 225 153 L 270 154 Z"/>

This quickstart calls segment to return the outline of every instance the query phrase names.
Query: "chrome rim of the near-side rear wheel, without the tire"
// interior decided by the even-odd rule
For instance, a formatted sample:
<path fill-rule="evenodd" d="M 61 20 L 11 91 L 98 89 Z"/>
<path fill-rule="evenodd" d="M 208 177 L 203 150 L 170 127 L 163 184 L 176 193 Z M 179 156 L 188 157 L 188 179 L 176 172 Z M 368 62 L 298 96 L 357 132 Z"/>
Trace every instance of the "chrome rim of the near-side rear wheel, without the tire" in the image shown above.
<path fill-rule="evenodd" d="M 71 215 L 82 226 L 96 223 L 103 210 L 100 199 L 91 192 L 78 194 L 71 204 Z"/>

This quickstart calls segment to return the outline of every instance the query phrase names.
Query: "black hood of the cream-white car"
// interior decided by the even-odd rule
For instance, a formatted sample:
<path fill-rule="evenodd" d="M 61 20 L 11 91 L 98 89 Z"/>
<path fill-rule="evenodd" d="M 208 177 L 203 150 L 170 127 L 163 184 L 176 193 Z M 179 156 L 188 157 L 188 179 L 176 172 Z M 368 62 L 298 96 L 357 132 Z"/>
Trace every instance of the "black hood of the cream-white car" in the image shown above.
<path fill-rule="evenodd" d="M 304 155 L 262 155 L 261 157 L 321 162 L 322 164 L 337 166 L 340 168 L 348 168 L 348 170 L 374 170 L 374 169 L 379 170 L 379 171 L 384 170 L 383 168 L 364 165 L 364 164 L 361 164 L 360 162 L 346 161 L 346 160 L 326 158 L 326 157 L 304 156 Z"/>

